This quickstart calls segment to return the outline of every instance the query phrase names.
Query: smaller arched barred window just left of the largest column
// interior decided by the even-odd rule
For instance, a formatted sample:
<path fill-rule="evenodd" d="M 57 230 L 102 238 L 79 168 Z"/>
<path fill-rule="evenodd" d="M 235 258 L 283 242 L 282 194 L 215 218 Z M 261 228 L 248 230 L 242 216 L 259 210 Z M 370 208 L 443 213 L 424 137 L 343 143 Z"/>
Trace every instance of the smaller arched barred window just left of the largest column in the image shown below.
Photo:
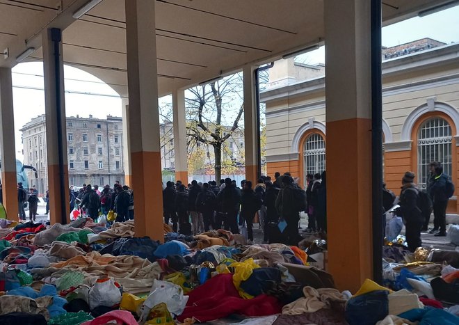
<path fill-rule="evenodd" d="M 320 134 L 311 134 L 305 141 L 303 151 L 305 178 L 325 171 L 325 141 Z"/>

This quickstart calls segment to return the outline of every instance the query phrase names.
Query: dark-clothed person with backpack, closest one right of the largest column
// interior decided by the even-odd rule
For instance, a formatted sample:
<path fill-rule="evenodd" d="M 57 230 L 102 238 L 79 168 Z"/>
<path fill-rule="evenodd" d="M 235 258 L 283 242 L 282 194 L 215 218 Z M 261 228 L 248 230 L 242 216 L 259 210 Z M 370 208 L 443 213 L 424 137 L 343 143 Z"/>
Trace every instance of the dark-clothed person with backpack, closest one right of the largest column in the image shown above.
<path fill-rule="evenodd" d="M 421 228 L 424 219 L 419 209 L 419 190 L 414 184 L 414 173 L 407 171 L 403 175 L 400 193 L 400 207 L 396 214 L 403 218 L 405 223 L 405 237 L 408 249 L 411 252 L 422 246 Z"/>

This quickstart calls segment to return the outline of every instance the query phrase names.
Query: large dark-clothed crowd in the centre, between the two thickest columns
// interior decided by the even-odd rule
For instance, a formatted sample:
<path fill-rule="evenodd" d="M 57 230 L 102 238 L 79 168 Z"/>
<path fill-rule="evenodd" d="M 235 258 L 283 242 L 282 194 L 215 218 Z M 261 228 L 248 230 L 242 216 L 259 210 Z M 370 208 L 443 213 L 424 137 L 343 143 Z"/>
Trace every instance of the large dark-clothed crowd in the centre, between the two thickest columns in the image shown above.
<path fill-rule="evenodd" d="M 310 176 L 307 191 L 300 189 L 298 179 L 293 180 L 290 173 L 275 173 L 275 180 L 261 176 L 257 184 L 243 180 L 241 187 L 230 178 L 219 184 L 193 180 L 188 186 L 181 181 L 167 182 L 163 189 L 164 222 L 171 222 L 172 230 L 184 235 L 220 228 L 232 233 L 246 231 L 252 243 L 253 222 L 258 215 L 264 242 L 298 244 L 302 211 L 309 215 L 308 231 L 326 232 L 325 172 Z M 298 198 L 304 201 L 303 206 L 296 204 Z M 279 227 L 280 221 L 286 223 L 284 229 Z"/>

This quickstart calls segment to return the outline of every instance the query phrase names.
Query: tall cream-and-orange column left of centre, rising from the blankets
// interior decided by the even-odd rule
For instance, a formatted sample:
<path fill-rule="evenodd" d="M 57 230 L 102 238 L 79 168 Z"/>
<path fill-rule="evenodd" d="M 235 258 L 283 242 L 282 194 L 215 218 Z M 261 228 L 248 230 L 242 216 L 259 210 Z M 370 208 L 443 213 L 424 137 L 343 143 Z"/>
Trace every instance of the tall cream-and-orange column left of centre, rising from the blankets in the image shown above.
<path fill-rule="evenodd" d="M 125 0 L 136 236 L 163 241 L 154 1 Z"/>

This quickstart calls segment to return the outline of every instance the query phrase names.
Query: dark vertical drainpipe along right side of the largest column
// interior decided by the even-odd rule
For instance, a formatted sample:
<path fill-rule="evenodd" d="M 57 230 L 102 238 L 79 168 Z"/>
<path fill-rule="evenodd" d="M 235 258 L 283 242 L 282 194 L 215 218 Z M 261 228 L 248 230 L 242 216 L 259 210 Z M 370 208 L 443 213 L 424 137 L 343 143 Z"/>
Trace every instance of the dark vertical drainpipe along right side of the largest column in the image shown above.
<path fill-rule="evenodd" d="M 381 81 L 381 0 L 371 0 L 371 202 L 373 279 L 383 282 L 383 86 Z"/>

